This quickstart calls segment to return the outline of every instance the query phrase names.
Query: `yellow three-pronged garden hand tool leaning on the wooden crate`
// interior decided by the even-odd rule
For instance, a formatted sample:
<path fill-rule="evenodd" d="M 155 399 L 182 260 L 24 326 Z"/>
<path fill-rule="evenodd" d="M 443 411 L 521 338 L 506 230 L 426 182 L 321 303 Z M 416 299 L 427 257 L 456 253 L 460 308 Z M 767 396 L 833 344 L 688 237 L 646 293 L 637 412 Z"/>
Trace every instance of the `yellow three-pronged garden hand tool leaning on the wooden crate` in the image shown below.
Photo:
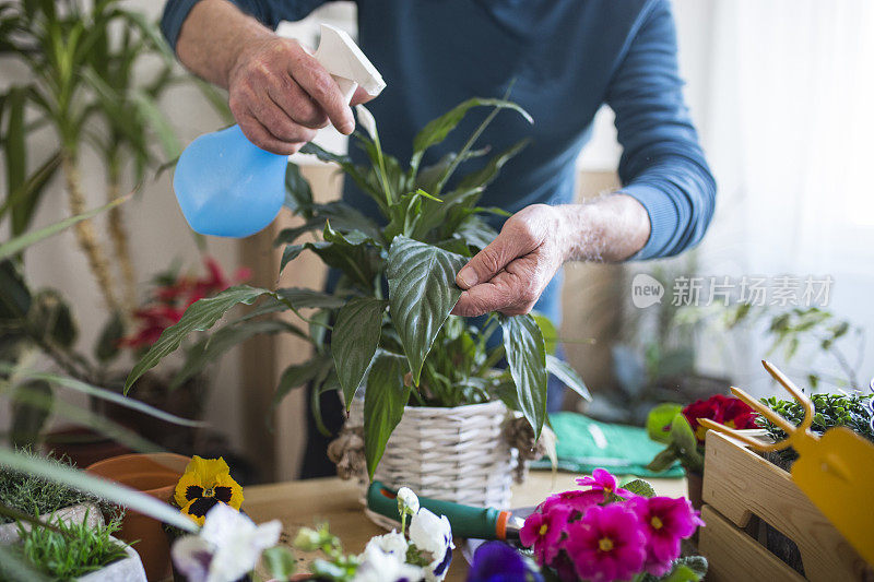
<path fill-rule="evenodd" d="M 847 427 L 834 427 L 818 437 L 811 431 L 814 408 L 811 400 L 780 370 L 761 363 L 775 380 L 789 391 L 804 408 L 804 419 L 795 427 L 739 388 L 732 393 L 761 416 L 780 427 L 788 437 L 765 443 L 713 423 L 700 419 L 706 428 L 730 435 L 751 449 L 779 451 L 792 447 L 799 459 L 791 468 L 792 480 L 828 518 L 862 558 L 874 563 L 874 443 Z"/>

